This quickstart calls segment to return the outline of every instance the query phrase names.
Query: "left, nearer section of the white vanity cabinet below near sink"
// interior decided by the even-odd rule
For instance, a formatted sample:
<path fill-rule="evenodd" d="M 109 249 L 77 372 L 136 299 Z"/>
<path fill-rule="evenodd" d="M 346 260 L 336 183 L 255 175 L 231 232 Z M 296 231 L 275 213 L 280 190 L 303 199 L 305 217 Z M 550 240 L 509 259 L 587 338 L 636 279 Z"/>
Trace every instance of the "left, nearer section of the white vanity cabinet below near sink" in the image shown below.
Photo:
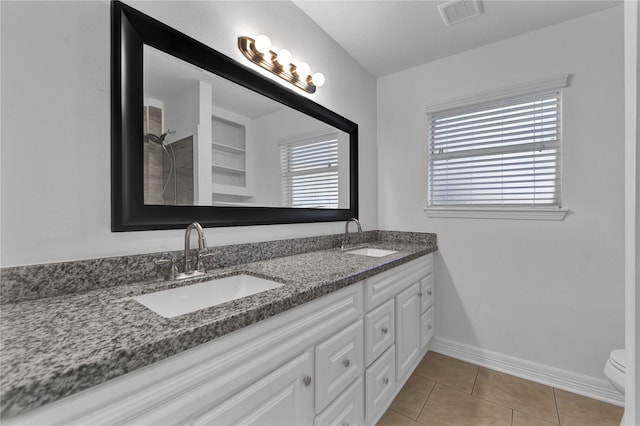
<path fill-rule="evenodd" d="M 335 366 L 360 377 L 362 313 L 358 283 L 3 425 L 312 425 L 323 413 L 315 404 L 316 349 L 326 342 L 339 353 L 346 348 L 349 368 Z M 353 343 L 331 345 L 342 335 Z M 340 374 L 332 378 L 329 398 L 350 385 Z"/>

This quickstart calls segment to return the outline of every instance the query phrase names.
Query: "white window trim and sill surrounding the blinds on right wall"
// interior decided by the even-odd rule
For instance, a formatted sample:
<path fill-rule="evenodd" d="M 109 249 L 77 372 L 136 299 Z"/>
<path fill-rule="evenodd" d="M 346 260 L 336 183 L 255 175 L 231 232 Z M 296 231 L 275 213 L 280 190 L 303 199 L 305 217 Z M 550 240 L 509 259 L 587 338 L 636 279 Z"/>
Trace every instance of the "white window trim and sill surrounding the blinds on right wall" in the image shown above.
<path fill-rule="evenodd" d="M 556 75 L 540 80 L 531 81 L 524 84 L 518 84 L 513 86 L 503 87 L 501 89 L 484 91 L 476 93 L 471 96 L 464 96 L 437 103 L 428 104 L 425 106 L 425 113 L 427 118 L 427 126 L 430 126 L 431 116 L 437 113 L 441 113 L 447 110 L 453 110 L 457 108 L 463 108 L 478 104 L 489 104 L 492 102 L 500 101 L 508 98 L 517 98 L 520 96 L 529 96 L 535 94 L 544 94 L 547 92 L 558 91 L 560 92 L 560 109 L 562 109 L 562 97 L 563 90 L 568 86 L 569 74 Z M 563 117 L 562 112 L 560 114 L 560 150 L 562 152 L 562 133 L 564 126 L 562 125 Z M 429 132 L 429 129 L 427 129 Z M 451 205 L 451 206 L 430 206 L 429 205 L 429 193 L 431 191 L 430 181 L 430 151 L 431 140 L 427 137 L 427 149 L 426 149 L 426 164 L 427 164 L 427 180 L 426 180 L 426 207 L 424 208 L 428 217 L 447 217 L 447 218 L 478 218 L 478 219 L 524 219 L 524 220 L 563 220 L 568 209 L 562 204 L 560 206 L 517 206 L 517 205 L 504 205 L 504 206 L 473 206 L 473 205 Z M 559 155 L 560 165 L 560 187 L 558 189 L 558 199 L 562 200 L 562 155 Z"/>

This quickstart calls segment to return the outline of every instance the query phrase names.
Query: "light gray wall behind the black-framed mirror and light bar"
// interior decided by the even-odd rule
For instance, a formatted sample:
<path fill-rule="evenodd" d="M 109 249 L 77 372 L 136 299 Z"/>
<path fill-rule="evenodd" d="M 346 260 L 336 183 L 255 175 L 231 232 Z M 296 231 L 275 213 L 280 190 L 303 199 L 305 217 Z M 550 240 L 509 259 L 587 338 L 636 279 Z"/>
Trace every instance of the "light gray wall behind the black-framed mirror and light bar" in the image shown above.
<path fill-rule="evenodd" d="M 324 73 L 327 83 L 309 96 L 358 123 L 361 221 L 365 229 L 377 226 L 375 79 L 300 9 L 270 1 L 128 3 L 246 66 L 253 65 L 237 37 L 264 33 L 274 48 L 286 47 Z M 109 2 L 2 1 L 0 7 L 0 266 L 180 249 L 180 230 L 110 231 Z M 207 229 L 206 236 L 223 245 L 343 229 L 341 223 L 256 226 Z"/>

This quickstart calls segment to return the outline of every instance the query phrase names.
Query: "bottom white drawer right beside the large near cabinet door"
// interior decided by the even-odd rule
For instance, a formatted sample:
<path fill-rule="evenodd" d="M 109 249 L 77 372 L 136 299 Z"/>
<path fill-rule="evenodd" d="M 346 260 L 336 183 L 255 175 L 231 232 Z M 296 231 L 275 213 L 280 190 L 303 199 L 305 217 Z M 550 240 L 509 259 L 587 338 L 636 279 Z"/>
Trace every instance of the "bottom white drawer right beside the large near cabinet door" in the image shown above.
<path fill-rule="evenodd" d="M 326 410 L 316 416 L 315 426 L 364 426 L 364 385 L 358 377 Z"/>

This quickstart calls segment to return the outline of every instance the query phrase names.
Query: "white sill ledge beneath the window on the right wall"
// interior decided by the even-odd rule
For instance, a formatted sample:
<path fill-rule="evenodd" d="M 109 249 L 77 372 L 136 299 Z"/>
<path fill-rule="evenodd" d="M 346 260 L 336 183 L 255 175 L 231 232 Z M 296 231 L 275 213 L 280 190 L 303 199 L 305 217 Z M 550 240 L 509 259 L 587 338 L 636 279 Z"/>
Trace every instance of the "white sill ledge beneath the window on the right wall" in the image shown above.
<path fill-rule="evenodd" d="M 569 209 L 527 207 L 427 207 L 429 217 L 514 220 L 564 220 Z"/>

